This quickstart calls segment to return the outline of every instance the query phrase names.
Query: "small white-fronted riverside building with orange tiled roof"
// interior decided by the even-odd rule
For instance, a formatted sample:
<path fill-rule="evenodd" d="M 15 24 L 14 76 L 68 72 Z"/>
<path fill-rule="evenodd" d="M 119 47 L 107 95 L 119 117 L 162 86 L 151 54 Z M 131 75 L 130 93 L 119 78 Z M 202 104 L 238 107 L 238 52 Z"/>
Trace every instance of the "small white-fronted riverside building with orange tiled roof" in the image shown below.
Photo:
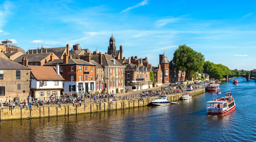
<path fill-rule="evenodd" d="M 60 67 L 52 66 L 28 66 L 31 68 L 31 97 L 49 98 L 50 96 L 60 97 L 60 90 L 63 89 L 63 81 L 60 75 Z M 46 74 L 47 73 L 47 74 Z"/>

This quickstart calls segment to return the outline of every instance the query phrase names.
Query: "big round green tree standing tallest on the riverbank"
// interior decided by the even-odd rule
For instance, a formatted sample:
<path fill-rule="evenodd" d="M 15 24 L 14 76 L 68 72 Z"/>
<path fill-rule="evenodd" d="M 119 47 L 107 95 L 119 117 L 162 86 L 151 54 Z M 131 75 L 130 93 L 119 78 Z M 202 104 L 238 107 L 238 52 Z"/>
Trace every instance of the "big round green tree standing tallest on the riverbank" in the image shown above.
<path fill-rule="evenodd" d="M 188 79 L 191 72 L 203 71 L 204 55 L 201 52 L 196 52 L 186 44 L 179 45 L 173 54 L 172 62 L 178 71 L 185 71 L 185 80 Z"/>

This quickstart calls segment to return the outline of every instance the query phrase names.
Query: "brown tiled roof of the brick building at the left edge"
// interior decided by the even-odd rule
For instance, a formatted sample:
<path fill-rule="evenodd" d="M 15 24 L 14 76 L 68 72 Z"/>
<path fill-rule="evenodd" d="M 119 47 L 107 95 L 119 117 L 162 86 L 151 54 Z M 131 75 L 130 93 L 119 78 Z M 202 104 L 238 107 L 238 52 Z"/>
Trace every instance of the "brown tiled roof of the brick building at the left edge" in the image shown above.
<path fill-rule="evenodd" d="M 8 57 L 7 57 L 8 58 Z M 23 66 L 11 59 L 4 59 L 0 57 L 0 69 L 2 70 L 30 70 L 30 68 Z"/>

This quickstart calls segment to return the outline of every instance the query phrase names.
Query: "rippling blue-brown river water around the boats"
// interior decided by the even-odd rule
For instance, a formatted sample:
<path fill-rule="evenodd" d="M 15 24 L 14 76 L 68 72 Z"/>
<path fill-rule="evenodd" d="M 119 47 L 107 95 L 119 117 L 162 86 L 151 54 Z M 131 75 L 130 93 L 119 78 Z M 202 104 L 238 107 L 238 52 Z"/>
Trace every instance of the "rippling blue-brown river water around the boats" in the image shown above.
<path fill-rule="evenodd" d="M 1 141 L 256 141 L 255 81 L 220 83 L 179 105 L 146 106 L 92 114 L 5 120 Z M 208 116 L 206 102 L 232 92 L 236 109 Z"/>

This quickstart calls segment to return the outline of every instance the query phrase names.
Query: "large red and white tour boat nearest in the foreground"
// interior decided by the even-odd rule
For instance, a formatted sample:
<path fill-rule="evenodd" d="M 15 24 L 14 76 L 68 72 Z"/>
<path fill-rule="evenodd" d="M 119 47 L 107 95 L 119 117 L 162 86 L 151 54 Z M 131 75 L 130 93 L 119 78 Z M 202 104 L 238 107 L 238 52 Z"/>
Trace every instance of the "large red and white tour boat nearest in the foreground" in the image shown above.
<path fill-rule="evenodd" d="M 236 104 L 231 92 L 226 93 L 225 97 L 221 97 L 219 101 L 207 101 L 208 115 L 222 116 L 236 108 Z"/>

